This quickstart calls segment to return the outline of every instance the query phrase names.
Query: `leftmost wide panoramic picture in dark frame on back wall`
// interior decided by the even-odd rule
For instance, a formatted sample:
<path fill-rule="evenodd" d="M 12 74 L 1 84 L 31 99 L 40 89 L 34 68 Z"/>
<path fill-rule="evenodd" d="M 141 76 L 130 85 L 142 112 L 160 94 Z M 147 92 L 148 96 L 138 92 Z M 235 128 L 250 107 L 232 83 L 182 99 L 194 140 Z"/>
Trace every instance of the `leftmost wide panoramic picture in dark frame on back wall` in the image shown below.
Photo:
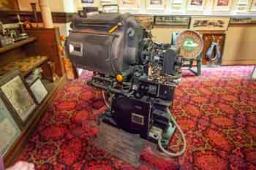
<path fill-rule="evenodd" d="M 189 21 L 189 17 L 156 16 L 154 18 L 154 24 L 162 26 L 189 26 Z"/>

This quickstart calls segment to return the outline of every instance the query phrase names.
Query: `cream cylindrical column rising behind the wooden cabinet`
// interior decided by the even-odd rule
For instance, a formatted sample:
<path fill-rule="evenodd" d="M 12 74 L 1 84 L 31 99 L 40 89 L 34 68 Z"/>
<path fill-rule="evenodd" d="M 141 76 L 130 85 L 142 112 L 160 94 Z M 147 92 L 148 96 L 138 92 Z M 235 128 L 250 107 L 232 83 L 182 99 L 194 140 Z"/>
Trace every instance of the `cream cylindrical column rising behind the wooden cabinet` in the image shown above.
<path fill-rule="evenodd" d="M 53 18 L 50 12 L 48 0 L 39 0 L 39 6 L 42 13 L 42 21 L 45 28 L 53 28 Z"/>

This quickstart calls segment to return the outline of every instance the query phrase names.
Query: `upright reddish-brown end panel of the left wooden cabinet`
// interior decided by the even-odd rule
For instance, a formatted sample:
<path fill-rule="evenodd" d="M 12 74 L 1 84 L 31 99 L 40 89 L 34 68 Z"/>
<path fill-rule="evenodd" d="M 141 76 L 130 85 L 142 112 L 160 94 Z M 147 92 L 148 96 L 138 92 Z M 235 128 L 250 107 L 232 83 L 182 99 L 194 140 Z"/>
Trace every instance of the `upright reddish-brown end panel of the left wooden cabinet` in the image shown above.
<path fill-rule="evenodd" d="M 37 37 L 37 43 L 33 43 L 26 48 L 26 53 L 30 55 L 46 55 L 50 61 L 56 65 L 56 74 L 62 77 L 64 74 L 64 66 L 61 61 L 58 50 L 58 34 L 59 28 L 40 28 L 27 30 L 30 36 Z"/>

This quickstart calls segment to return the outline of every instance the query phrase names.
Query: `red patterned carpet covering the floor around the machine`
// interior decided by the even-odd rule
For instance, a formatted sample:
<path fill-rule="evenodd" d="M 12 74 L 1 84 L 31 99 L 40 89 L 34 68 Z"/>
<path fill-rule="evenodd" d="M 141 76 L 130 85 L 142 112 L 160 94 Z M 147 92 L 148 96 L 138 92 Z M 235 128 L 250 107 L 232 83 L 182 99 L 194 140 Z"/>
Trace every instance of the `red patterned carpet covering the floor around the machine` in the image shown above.
<path fill-rule="evenodd" d="M 187 152 L 162 158 L 144 150 L 146 164 L 137 169 L 256 169 L 256 82 L 252 66 L 203 69 L 195 77 L 184 71 L 176 89 L 173 115 L 187 136 Z M 97 128 L 88 128 L 104 106 L 100 93 L 86 85 L 90 75 L 68 82 L 59 93 L 20 160 L 38 170 L 132 170 L 133 166 L 94 147 Z M 104 109 L 104 108 L 103 108 Z M 170 150 L 181 147 L 178 134 Z"/>

